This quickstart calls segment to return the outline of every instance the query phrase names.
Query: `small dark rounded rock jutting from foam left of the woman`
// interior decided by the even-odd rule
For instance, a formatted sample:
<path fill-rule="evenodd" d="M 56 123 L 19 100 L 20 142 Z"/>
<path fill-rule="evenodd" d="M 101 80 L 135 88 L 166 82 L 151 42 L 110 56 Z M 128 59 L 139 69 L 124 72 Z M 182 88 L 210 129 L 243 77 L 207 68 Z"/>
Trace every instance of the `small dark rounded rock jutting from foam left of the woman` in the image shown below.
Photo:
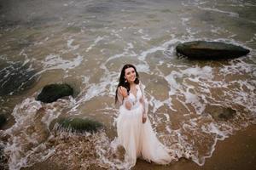
<path fill-rule="evenodd" d="M 46 85 L 38 95 L 39 101 L 51 103 L 64 96 L 73 95 L 73 88 L 68 84 L 49 84 Z"/>

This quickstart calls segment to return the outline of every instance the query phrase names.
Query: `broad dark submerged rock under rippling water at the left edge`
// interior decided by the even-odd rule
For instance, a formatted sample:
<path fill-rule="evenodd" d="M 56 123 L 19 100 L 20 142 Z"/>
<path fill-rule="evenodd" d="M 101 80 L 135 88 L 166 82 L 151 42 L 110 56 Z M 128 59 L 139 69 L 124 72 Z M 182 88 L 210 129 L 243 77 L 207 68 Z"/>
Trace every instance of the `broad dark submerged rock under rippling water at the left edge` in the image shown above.
<path fill-rule="evenodd" d="M 0 71 L 0 95 L 20 92 L 29 88 L 36 81 L 36 71 L 31 65 L 2 65 Z"/>

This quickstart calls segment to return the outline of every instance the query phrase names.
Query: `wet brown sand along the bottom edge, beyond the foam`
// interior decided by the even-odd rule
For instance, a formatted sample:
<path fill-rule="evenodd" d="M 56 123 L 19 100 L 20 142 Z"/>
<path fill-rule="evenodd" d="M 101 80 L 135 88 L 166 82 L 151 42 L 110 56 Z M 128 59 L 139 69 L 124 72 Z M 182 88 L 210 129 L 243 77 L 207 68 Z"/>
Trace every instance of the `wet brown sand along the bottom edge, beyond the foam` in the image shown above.
<path fill-rule="evenodd" d="M 57 167 L 54 162 L 44 161 L 35 164 L 32 167 L 22 168 L 23 170 L 62 170 L 65 167 Z M 91 165 L 90 169 L 101 169 L 96 165 Z M 224 141 L 218 141 L 216 150 L 212 157 L 206 160 L 206 163 L 200 167 L 193 161 L 182 159 L 172 163 L 169 166 L 160 166 L 137 160 L 137 165 L 133 170 L 254 170 L 256 169 L 256 126 L 249 127 L 236 132 L 230 138 Z"/>

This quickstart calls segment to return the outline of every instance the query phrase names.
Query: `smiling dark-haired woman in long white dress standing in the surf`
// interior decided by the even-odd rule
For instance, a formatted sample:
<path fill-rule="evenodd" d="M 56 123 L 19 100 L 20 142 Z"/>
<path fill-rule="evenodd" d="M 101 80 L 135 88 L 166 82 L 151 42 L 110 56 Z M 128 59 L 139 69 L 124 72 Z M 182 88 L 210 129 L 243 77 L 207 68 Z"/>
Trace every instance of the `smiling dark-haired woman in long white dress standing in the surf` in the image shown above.
<path fill-rule="evenodd" d="M 125 148 L 125 161 L 135 166 L 137 157 L 158 164 L 172 161 L 165 146 L 156 138 L 147 116 L 148 103 L 134 65 L 125 65 L 119 77 L 115 102 L 119 102 L 118 141 Z"/>

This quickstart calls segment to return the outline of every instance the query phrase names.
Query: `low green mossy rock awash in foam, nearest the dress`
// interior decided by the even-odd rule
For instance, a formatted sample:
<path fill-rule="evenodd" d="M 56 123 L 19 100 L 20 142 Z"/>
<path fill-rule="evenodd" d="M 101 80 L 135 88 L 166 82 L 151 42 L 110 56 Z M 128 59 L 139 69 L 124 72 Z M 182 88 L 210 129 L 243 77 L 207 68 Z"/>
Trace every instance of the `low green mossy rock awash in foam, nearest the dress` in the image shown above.
<path fill-rule="evenodd" d="M 96 122 L 89 118 L 60 118 L 57 120 L 57 123 L 61 128 L 71 130 L 75 133 L 95 133 L 103 127 L 101 122 Z"/>

